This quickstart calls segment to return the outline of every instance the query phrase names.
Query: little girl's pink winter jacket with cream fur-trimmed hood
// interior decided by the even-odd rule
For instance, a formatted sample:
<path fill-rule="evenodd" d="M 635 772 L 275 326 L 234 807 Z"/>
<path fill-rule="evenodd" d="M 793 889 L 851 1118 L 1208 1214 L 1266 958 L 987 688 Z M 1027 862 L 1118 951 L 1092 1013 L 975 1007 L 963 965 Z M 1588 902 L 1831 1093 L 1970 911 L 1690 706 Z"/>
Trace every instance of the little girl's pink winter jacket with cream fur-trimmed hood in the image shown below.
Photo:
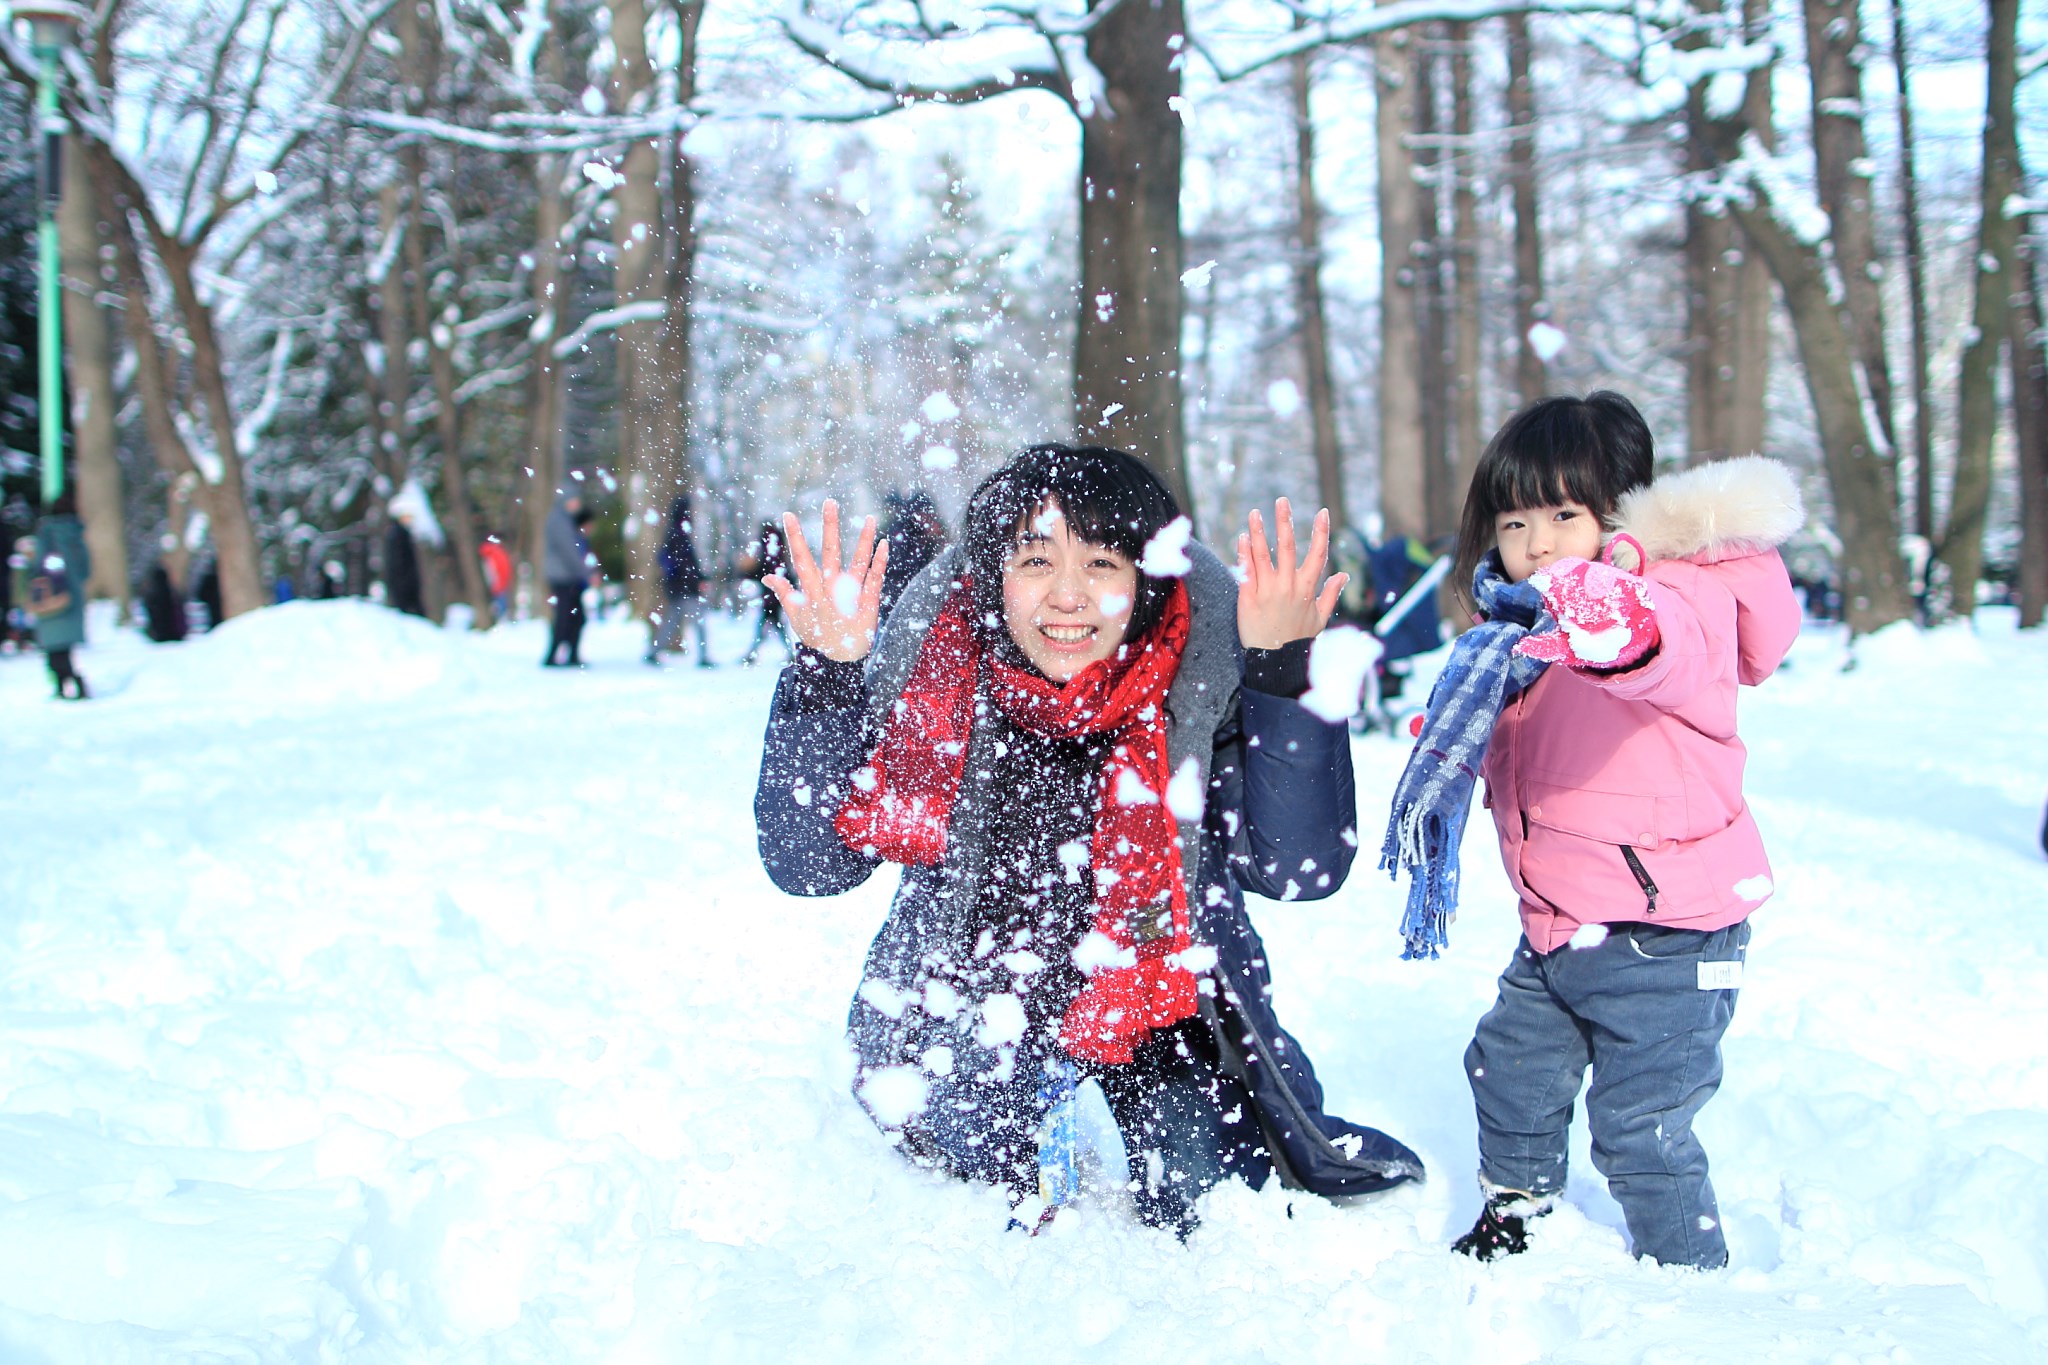
<path fill-rule="evenodd" d="M 1772 675 L 1800 612 L 1782 544 L 1798 485 L 1747 456 L 1622 499 L 1659 645 L 1612 675 L 1550 667 L 1507 702 L 1481 772 L 1522 927 L 1548 954 L 1579 925 L 1720 929 L 1772 894 L 1743 802 L 1735 690 Z"/>

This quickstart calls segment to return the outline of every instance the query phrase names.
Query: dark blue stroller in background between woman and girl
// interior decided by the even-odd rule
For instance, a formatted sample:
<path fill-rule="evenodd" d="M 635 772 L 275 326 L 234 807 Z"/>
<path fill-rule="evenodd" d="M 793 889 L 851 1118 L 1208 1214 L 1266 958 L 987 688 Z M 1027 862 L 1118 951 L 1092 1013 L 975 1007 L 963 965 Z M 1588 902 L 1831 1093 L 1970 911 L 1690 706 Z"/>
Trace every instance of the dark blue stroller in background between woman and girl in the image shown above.
<path fill-rule="evenodd" d="M 1436 610 L 1436 589 L 1450 573 L 1450 555 L 1436 553 L 1413 536 L 1395 536 L 1384 544 L 1366 544 L 1356 530 L 1337 536 L 1337 567 L 1350 573 L 1337 598 L 1335 618 L 1348 626 L 1370 630 L 1380 643 L 1380 657 L 1366 675 L 1352 731 L 1368 735 L 1407 735 L 1411 712 L 1419 702 L 1403 700 L 1411 659 L 1444 643 L 1442 616 Z"/>

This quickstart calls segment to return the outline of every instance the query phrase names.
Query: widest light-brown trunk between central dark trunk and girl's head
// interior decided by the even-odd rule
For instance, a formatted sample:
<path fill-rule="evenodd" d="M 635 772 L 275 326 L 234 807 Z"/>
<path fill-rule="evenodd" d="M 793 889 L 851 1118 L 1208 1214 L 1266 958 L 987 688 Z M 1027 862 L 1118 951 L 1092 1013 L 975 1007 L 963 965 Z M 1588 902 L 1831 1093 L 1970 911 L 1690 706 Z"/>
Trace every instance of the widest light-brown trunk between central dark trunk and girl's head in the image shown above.
<path fill-rule="evenodd" d="M 1374 39 L 1380 190 L 1380 536 L 1430 534 L 1427 446 L 1421 424 L 1421 319 L 1415 246 L 1413 41 L 1403 29 Z"/>

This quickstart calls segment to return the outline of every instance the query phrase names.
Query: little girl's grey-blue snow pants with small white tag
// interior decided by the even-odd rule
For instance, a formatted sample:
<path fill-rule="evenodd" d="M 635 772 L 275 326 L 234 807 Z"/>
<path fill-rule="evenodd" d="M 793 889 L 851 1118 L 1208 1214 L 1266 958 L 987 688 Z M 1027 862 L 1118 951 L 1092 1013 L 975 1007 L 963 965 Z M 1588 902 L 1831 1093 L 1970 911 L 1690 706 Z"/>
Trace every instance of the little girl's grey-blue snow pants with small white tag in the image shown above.
<path fill-rule="evenodd" d="M 1464 1050 L 1481 1179 L 1534 1195 L 1565 1187 L 1565 1132 L 1591 1066 L 1593 1166 L 1636 1254 L 1726 1265 L 1692 1119 L 1720 1087 L 1720 1036 L 1747 948 L 1749 921 L 1714 931 L 1622 923 L 1593 948 L 1548 956 L 1524 937 Z"/>

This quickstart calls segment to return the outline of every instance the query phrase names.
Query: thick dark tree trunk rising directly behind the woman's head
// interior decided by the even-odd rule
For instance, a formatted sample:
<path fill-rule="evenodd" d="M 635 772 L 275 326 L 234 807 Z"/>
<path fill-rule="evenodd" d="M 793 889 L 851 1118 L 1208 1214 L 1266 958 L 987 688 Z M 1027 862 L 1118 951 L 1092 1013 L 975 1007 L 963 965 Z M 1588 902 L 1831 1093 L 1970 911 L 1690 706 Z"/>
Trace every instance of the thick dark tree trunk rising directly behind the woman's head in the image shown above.
<path fill-rule="evenodd" d="M 1100 10 L 1110 0 L 1092 0 Z M 1180 411 L 1182 0 L 1116 4 L 1087 35 L 1100 102 L 1081 119 L 1081 327 L 1073 420 L 1145 458 L 1194 516 Z"/>

